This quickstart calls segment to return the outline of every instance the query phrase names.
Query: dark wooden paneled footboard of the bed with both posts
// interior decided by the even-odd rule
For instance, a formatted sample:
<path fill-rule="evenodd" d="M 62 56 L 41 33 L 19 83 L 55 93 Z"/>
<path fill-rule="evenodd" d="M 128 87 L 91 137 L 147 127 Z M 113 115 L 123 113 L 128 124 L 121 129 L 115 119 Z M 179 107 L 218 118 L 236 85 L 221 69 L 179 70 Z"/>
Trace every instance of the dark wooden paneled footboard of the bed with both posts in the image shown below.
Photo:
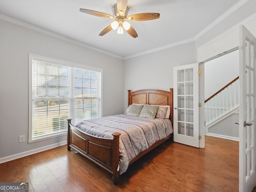
<path fill-rule="evenodd" d="M 113 139 L 100 138 L 86 134 L 71 123 L 68 119 L 67 148 L 73 148 L 84 157 L 112 174 L 114 184 L 118 182 L 119 171 L 119 136 L 113 133 Z"/>

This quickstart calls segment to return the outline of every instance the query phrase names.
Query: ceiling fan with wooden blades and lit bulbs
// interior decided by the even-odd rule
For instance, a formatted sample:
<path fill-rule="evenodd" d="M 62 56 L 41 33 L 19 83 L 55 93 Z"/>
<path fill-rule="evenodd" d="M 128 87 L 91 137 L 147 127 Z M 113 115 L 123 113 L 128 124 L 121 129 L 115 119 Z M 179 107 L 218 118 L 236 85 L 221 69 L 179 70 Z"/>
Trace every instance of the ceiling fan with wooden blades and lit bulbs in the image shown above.
<path fill-rule="evenodd" d="M 134 28 L 128 23 L 128 21 L 148 21 L 153 19 L 158 19 L 160 17 L 160 13 L 138 13 L 134 15 L 128 16 L 129 8 L 127 6 L 128 0 L 117 0 L 116 4 L 113 5 L 112 11 L 114 16 L 93 11 L 89 9 L 80 9 L 80 12 L 84 12 L 86 14 L 104 17 L 104 18 L 110 18 L 114 19 L 115 21 L 111 23 L 111 25 L 107 26 L 102 32 L 100 32 L 99 36 L 103 36 L 110 32 L 112 29 L 117 30 L 118 34 L 123 34 L 124 30 L 130 34 L 133 38 L 138 37 L 137 32 L 134 30 Z"/>

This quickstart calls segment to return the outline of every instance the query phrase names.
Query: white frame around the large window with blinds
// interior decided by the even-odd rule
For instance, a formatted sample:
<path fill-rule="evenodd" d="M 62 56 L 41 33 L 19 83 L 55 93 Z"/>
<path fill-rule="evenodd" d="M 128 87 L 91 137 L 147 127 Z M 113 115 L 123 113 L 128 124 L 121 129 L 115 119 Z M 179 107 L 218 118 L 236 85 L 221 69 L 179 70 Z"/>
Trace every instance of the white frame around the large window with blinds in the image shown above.
<path fill-rule="evenodd" d="M 84 70 L 91 70 L 91 71 L 96 71 L 96 72 L 100 72 L 100 103 L 99 103 L 99 116 L 102 117 L 102 76 L 103 76 L 103 69 L 102 68 L 97 68 L 97 67 L 93 67 L 93 66 L 87 66 L 84 64 L 78 64 L 78 63 L 73 63 L 73 62 L 68 62 L 68 61 L 64 61 L 64 60 L 58 60 L 58 59 L 54 59 L 54 58 L 48 58 L 48 57 L 44 57 L 44 56 L 39 56 L 39 55 L 35 55 L 35 54 L 31 54 L 29 53 L 28 55 L 28 143 L 34 143 L 34 142 L 39 142 L 42 140 L 48 140 L 51 138 L 56 138 L 56 137 L 60 137 L 60 136 L 65 136 L 67 134 L 67 131 L 63 131 L 63 132 L 58 132 L 58 133 L 54 133 L 54 134 L 49 134 L 49 135 L 45 135 L 45 136 L 40 136 L 38 138 L 32 138 L 32 60 L 38 60 L 41 62 L 48 62 L 48 63 L 52 63 L 52 64 L 58 64 L 58 65 L 62 65 L 62 66 L 69 66 L 69 67 L 73 67 L 73 68 L 80 68 L 80 69 L 84 69 Z M 72 82 L 72 81 L 71 81 Z M 74 83 L 74 82 L 72 82 Z M 70 90 L 72 91 L 72 90 Z M 70 97 L 70 100 L 74 100 L 74 96 Z M 70 110 L 70 107 L 69 107 Z M 72 113 L 70 112 L 70 115 Z M 72 118 L 72 117 L 71 117 Z"/>

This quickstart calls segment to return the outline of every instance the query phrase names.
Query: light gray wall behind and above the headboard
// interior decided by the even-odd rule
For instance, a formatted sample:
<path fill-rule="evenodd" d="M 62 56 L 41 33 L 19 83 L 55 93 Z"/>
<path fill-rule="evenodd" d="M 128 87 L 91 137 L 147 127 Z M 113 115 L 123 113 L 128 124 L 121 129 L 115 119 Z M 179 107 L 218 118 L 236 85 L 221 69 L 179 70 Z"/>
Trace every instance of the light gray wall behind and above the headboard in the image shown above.
<path fill-rule="evenodd" d="M 173 88 L 173 67 L 195 63 L 195 43 L 191 42 L 124 61 L 124 110 L 127 91 Z"/>

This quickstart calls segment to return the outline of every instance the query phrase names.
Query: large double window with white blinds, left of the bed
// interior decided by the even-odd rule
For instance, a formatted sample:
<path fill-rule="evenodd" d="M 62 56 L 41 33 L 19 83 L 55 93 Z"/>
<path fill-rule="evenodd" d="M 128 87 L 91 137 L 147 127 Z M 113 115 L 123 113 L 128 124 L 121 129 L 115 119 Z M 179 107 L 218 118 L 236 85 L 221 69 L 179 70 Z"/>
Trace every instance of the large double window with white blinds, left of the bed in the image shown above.
<path fill-rule="evenodd" d="M 66 134 L 72 122 L 101 116 L 102 70 L 29 55 L 29 143 Z"/>

